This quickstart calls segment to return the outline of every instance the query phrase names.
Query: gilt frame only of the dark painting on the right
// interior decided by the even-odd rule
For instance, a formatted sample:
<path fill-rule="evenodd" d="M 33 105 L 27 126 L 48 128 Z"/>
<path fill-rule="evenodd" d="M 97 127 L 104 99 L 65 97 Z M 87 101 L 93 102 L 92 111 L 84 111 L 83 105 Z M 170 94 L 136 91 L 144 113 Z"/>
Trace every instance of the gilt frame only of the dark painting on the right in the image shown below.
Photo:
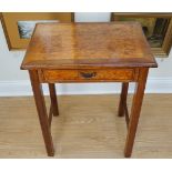
<path fill-rule="evenodd" d="M 169 55 L 169 52 L 172 47 L 172 13 L 150 13 L 150 12 L 143 12 L 143 13 L 112 12 L 111 13 L 111 21 L 121 21 L 121 20 L 124 20 L 124 18 L 129 19 L 130 21 L 132 19 L 133 20 L 138 19 L 138 21 L 141 21 L 142 19 L 152 19 L 152 23 L 153 23 L 153 19 L 166 19 L 168 23 L 164 27 L 166 27 L 166 26 L 168 27 L 163 29 L 163 30 L 165 30 L 165 32 L 164 32 L 161 45 L 160 47 L 151 45 L 151 49 L 156 57 L 168 57 Z M 150 23 L 148 23 L 148 24 L 150 24 Z"/>

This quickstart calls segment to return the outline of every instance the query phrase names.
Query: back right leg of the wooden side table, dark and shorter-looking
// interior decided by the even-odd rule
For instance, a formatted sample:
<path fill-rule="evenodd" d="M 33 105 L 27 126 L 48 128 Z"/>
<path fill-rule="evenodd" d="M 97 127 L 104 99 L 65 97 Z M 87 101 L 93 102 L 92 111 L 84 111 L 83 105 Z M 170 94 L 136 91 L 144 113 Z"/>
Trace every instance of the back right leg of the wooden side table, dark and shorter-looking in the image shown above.
<path fill-rule="evenodd" d="M 129 82 L 123 82 L 122 83 L 121 95 L 120 95 L 119 111 L 118 111 L 119 117 L 124 115 L 124 103 L 127 103 L 128 89 L 129 89 Z"/>

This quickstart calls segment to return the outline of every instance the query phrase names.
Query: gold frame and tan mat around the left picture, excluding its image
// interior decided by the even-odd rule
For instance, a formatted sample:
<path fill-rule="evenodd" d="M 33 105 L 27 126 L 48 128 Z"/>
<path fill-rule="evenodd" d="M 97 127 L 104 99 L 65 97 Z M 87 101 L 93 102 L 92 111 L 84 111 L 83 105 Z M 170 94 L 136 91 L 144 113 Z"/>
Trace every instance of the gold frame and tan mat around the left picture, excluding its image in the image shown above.
<path fill-rule="evenodd" d="M 72 12 L 1 12 L 1 22 L 9 50 L 27 49 L 30 39 L 22 39 L 19 33 L 18 21 L 58 20 L 73 22 Z"/>

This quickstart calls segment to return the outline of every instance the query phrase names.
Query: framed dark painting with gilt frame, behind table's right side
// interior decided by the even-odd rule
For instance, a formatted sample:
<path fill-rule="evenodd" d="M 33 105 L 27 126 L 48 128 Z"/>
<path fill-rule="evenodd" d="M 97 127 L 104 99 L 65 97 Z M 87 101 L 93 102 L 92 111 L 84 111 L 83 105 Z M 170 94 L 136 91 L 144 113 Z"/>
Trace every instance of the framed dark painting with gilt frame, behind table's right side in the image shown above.
<path fill-rule="evenodd" d="M 172 13 L 112 12 L 111 21 L 139 21 L 153 53 L 168 57 L 172 47 Z"/>

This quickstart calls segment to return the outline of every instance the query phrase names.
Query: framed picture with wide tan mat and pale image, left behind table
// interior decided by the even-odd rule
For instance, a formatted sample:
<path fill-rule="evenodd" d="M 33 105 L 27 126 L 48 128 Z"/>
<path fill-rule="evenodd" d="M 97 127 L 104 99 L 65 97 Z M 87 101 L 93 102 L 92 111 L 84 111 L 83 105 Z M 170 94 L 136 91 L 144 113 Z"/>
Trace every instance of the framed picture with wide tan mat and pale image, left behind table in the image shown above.
<path fill-rule="evenodd" d="M 2 12 L 1 21 L 10 50 L 26 49 L 36 23 L 72 22 L 71 12 Z"/>

